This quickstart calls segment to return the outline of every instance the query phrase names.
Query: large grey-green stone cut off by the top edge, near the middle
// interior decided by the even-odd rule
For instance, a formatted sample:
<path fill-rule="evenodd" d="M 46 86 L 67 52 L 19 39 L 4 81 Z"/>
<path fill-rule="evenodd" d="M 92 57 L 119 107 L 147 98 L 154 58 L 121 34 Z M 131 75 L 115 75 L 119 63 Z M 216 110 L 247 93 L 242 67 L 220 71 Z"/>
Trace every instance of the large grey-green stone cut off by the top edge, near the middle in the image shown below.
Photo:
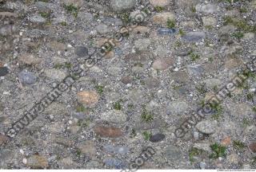
<path fill-rule="evenodd" d="M 116 12 L 130 10 L 136 6 L 136 0 L 110 0 L 110 6 Z"/>

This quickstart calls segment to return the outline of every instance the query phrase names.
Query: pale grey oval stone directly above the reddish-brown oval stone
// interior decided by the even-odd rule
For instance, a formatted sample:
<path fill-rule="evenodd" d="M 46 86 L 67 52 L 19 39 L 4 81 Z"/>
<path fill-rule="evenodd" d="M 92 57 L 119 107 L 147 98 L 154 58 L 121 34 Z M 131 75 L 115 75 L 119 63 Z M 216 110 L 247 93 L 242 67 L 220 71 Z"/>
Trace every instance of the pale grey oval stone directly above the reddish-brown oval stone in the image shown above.
<path fill-rule="evenodd" d="M 126 114 L 123 111 L 107 111 L 103 112 L 101 116 L 102 120 L 106 120 L 111 123 L 125 123 L 126 122 Z"/>

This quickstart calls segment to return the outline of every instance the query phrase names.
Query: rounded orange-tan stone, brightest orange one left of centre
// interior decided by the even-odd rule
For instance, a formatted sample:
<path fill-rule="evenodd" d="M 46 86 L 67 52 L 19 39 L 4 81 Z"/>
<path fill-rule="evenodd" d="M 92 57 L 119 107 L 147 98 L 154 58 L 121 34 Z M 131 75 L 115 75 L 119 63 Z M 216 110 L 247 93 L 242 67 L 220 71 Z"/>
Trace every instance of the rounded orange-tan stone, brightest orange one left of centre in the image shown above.
<path fill-rule="evenodd" d="M 82 91 L 78 92 L 78 102 L 85 104 L 86 106 L 94 106 L 98 103 L 98 93 L 94 91 Z"/>

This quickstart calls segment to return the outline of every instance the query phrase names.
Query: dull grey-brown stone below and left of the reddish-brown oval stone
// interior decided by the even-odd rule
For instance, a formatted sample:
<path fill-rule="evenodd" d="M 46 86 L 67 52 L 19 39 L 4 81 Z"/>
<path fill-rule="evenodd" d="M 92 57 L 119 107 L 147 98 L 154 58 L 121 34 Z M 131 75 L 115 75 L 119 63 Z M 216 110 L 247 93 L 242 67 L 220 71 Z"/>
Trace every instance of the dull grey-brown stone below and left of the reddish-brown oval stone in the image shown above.
<path fill-rule="evenodd" d="M 82 154 L 86 154 L 90 157 L 96 156 L 96 147 L 92 140 L 86 140 L 82 143 L 78 143 L 78 149 L 82 152 Z"/>

